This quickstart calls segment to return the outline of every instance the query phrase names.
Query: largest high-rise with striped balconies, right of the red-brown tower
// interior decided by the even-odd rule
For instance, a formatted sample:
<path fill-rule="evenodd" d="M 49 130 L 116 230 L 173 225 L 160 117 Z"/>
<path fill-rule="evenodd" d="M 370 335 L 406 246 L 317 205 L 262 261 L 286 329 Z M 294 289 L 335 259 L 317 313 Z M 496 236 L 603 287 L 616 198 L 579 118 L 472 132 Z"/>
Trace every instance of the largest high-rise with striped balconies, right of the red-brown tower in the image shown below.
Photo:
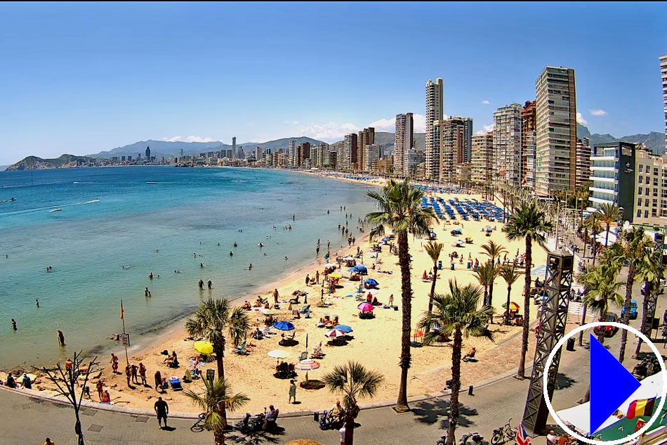
<path fill-rule="evenodd" d="M 535 82 L 535 191 L 547 196 L 576 184 L 574 70 L 545 67 Z"/>

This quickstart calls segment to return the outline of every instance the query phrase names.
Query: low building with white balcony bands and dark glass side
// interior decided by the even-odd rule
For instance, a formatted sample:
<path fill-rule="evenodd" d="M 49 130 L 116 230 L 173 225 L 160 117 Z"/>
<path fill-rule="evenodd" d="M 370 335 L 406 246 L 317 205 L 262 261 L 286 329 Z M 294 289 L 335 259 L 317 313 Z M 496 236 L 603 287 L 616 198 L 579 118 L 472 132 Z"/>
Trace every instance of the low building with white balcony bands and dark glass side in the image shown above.
<path fill-rule="evenodd" d="M 591 182 L 589 212 L 603 203 L 623 207 L 623 219 L 633 221 L 635 202 L 635 144 L 628 142 L 599 143 L 590 157 Z M 642 188 L 642 192 L 645 189 Z"/>

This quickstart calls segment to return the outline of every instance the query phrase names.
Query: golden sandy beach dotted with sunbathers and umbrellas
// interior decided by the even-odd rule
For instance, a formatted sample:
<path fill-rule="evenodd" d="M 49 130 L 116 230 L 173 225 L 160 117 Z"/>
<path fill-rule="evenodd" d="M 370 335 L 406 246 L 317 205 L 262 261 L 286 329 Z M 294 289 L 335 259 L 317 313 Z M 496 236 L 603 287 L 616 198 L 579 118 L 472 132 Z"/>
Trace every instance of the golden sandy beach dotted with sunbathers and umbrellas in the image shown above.
<path fill-rule="evenodd" d="M 348 179 L 352 180 L 352 179 Z M 362 182 L 362 181 L 360 181 Z M 378 185 L 372 183 L 369 185 Z M 458 198 L 475 198 L 481 199 L 480 195 L 458 194 Z M 454 195 L 442 195 L 443 198 L 453 198 Z M 368 209 L 370 212 L 372 209 Z M 355 215 L 350 224 L 353 226 L 357 223 Z M 454 224 L 440 224 L 435 226 L 435 233 L 437 233 L 437 241 L 444 243 L 444 250 L 441 256 L 443 268 L 439 271 L 436 292 L 446 292 L 448 289 L 448 281 L 450 279 L 458 280 L 459 284 L 465 285 L 467 283 L 477 283 L 472 270 L 466 269 L 466 262 L 468 254 L 480 262 L 485 261 L 486 257 L 481 253 L 481 245 L 487 243 L 489 240 L 494 240 L 500 243 L 508 250 L 508 258 L 513 258 L 517 250 L 520 254 L 524 251 L 524 242 L 510 243 L 506 240 L 503 233 L 501 233 L 502 224 L 490 223 L 491 226 L 496 226 L 496 230 L 491 233 L 491 236 L 484 235 L 483 227 L 489 225 L 487 221 L 461 221 L 458 220 L 459 225 Z M 462 228 L 463 234 L 458 236 L 451 236 L 449 231 L 452 228 Z M 366 226 L 366 233 L 369 231 Z M 465 244 L 464 247 L 452 247 L 452 244 L 457 239 L 465 237 L 473 238 L 473 244 Z M 428 307 L 428 293 L 430 292 L 430 280 L 422 280 L 424 271 L 432 271 L 432 261 L 428 254 L 423 250 L 423 245 L 426 240 L 410 239 L 410 253 L 413 255 L 413 269 L 411 270 L 412 285 L 414 290 L 414 299 L 412 300 L 412 324 L 413 330 L 423 312 Z M 324 243 L 323 250 L 326 247 Z M 355 246 L 340 248 L 338 245 L 331 246 L 331 252 L 334 254 L 338 250 L 338 254 L 345 256 L 346 254 L 355 254 L 357 247 L 360 247 L 364 252 L 363 262 L 369 269 L 369 275 L 362 278 L 374 278 L 379 283 L 380 291 L 376 297 L 379 302 L 387 304 L 390 295 L 394 296 L 394 304 L 400 308 L 400 273 L 397 265 L 397 256 L 390 254 L 387 245 L 383 245 L 382 252 L 379 253 L 381 264 L 374 263 L 375 258 L 370 257 L 371 246 L 367 239 L 357 239 Z M 463 255 L 464 262 L 459 264 L 458 260 L 455 263 L 455 270 L 449 269 L 449 253 L 457 250 L 459 255 Z M 332 259 L 335 258 L 335 254 Z M 546 252 L 538 245 L 533 248 L 534 266 L 545 264 Z M 274 377 L 276 359 L 267 356 L 267 353 L 273 349 L 282 349 L 289 352 L 286 361 L 289 363 L 296 363 L 299 355 L 306 351 L 305 342 L 308 336 L 308 354 L 312 353 L 314 347 L 322 342 L 322 352 L 326 354 L 323 359 L 318 360 L 321 367 L 317 370 L 311 370 L 308 376 L 311 380 L 319 379 L 325 373 L 333 370 L 337 364 L 344 363 L 347 360 L 354 360 L 363 363 L 368 368 L 373 368 L 381 371 L 385 375 L 385 384 L 381 387 L 378 394 L 375 396 L 375 401 L 385 401 L 395 399 L 398 392 L 399 384 L 399 368 L 398 361 L 400 356 L 400 326 L 401 326 L 401 311 L 393 310 L 391 308 L 383 309 L 376 307 L 374 319 L 359 319 L 359 311 L 357 310 L 358 301 L 354 297 L 348 295 L 355 295 L 355 290 L 359 286 L 359 282 L 350 281 L 346 279 L 349 276 L 347 267 L 343 264 L 340 270 L 343 279 L 341 284 L 343 288 L 337 289 L 334 294 L 325 294 L 324 298 L 330 305 L 326 308 L 317 307 L 317 302 L 320 299 L 321 286 L 320 285 L 305 285 L 305 276 L 309 274 L 314 276 L 316 271 L 319 271 L 322 276 L 324 259 L 312 263 L 309 266 L 303 267 L 298 271 L 293 271 L 288 276 L 284 276 L 278 283 L 271 283 L 266 285 L 258 291 L 262 297 L 269 298 L 272 302 L 272 290 L 277 288 L 279 291 L 281 302 L 280 310 L 277 311 L 275 318 L 277 320 L 290 321 L 296 327 L 295 339 L 298 340 L 298 345 L 294 347 L 280 347 L 278 342 L 281 340 L 280 331 L 275 331 L 277 334 L 265 337 L 263 340 L 249 340 L 249 354 L 239 355 L 235 353 L 235 348 L 230 343 L 227 344 L 225 353 L 225 376 L 232 383 L 235 392 L 243 392 L 251 401 L 244 408 L 244 411 L 258 412 L 262 411 L 265 406 L 275 404 L 279 406 L 282 412 L 289 411 L 307 411 L 310 409 L 322 409 L 323 407 L 331 406 L 335 401 L 335 396 L 329 393 L 328 389 L 314 389 L 306 390 L 301 387 L 298 388 L 296 399 L 299 402 L 296 405 L 287 406 L 286 399 L 288 398 L 289 380 L 280 380 Z M 311 318 L 293 319 L 293 315 L 288 311 L 289 304 L 287 300 L 296 290 L 308 292 L 308 303 L 311 304 L 312 315 Z M 522 306 L 522 290 L 523 280 L 517 280 L 517 283 L 512 288 L 512 300 Z M 496 314 L 502 314 L 502 304 L 506 301 L 507 287 L 502 278 L 498 278 L 494 287 L 494 307 Z M 252 300 L 251 300 L 252 302 Z M 303 297 L 301 298 L 303 303 Z M 242 300 L 237 300 L 235 303 L 242 304 Z M 303 307 L 303 304 L 293 305 L 293 309 Z M 531 306 L 531 319 L 534 320 L 536 314 L 536 307 Z M 521 308 L 523 311 L 523 308 Z M 327 329 L 317 328 L 316 324 L 319 318 L 325 314 L 331 317 L 338 316 L 339 323 L 349 325 L 353 332 L 350 334 L 353 337 L 347 345 L 343 347 L 328 346 L 326 343 L 329 339 L 324 337 Z M 264 326 L 265 316 L 259 311 L 251 311 L 251 320 L 253 325 L 260 328 Z M 498 318 L 496 318 L 497 322 Z M 491 343 L 487 340 L 465 339 L 464 350 L 468 351 L 472 347 L 477 348 L 477 354 L 480 356 L 480 361 L 477 363 L 465 363 L 463 366 L 463 380 L 464 382 L 480 381 L 484 378 L 489 378 L 492 375 L 503 373 L 506 370 L 515 368 L 518 361 L 518 347 L 514 354 L 504 354 L 501 356 L 494 356 L 489 353 L 489 350 L 495 347 L 496 344 L 503 342 L 520 332 L 520 327 L 510 327 L 506 325 L 491 325 L 491 329 L 496 335 L 496 343 Z M 291 333 L 286 333 L 291 335 Z M 147 380 L 150 385 L 153 384 L 153 375 L 155 370 L 159 369 L 163 377 L 176 375 L 183 378 L 183 374 L 187 370 L 188 359 L 191 356 L 196 356 L 192 340 L 185 340 L 187 334 L 183 329 L 174 328 L 164 335 L 155 339 L 147 347 L 135 352 L 131 352 L 129 356 L 130 363 L 143 363 L 147 368 Z M 180 368 L 168 368 L 164 363 L 166 356 L 162 355 L 163 350 L 176 351 L 180 361 Z M 119 356 L 119 370 L 123 371 L 125 367 L 125 353 L 124 349 L 118 345 L 114 349 L 115 354 Z M 434 375 L 439 368 L 440 375 L 449 375 L 449 366 L 451 366 L 451 343 L 443 343 L 433 347 L 414 347 L 412 349 L 412 366 L 409 374 L 409 395 L 425 394 L 434 392 L 444 387 L 444 380 L 440 381 L 438 378 L 435 382 L 429 375 Z M 143 387 L 141 385 L 133 385 L 133 389 L 128 388 L 124 374 L 114 375 L 110 365 L 110 356 L 101 356 L 100 364 L 103 370 L 99 373 L 93 374 L 92 393 L 95 393 L 94 386 L 98 379 L 103 381 L 106 388 L 109 389 L 112 402 L 119 406 L 128 406 L 132 408 L 152 408 L 158 393 L 154 388 Z M 202 363 L 199 366 L 202 373 L 205 375 L 206 370 L 216 369 L 216 363 Z M 297 382 L 305 380 L 305 372 L 299 371 Z M 44 382 L 44 379 L 38 378 L 38 389 L 50 389 L 51 385 Z M 202 392 L 202 380 L 194 380 L 191 383 L 184 383 L 185 389 L 194 389 L 196 392 Z M 189 399 L 187 399 L 183 392 L 173 392 L 171 389 L 162 394 L 163 398 L 169 401 L 170 408 L 173 411 L 197 411 L 197 408 L 192 406 Z M 93 394 L 93 400 L 97 400 L 96 394 Z"/>

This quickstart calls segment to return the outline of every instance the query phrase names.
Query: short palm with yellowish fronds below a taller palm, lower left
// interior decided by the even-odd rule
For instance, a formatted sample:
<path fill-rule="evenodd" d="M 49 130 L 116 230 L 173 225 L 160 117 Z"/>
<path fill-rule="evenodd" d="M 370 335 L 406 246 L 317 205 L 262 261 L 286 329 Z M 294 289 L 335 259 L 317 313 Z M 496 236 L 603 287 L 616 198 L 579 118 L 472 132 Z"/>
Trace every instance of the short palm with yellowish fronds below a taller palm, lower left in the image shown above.
<path fill-rule="evenodd" d="M 204 410 L 204 430 L 212 431 L 216 444 L 225 444 L 227 416 L 225 410 L 235 411 L 247 404 L 250 399 L 246 394 L 232 394 L 232 388 L 226 379 L 203 379 L 206 392 L 199 395 L 188 389 L 183 394 Z"/>

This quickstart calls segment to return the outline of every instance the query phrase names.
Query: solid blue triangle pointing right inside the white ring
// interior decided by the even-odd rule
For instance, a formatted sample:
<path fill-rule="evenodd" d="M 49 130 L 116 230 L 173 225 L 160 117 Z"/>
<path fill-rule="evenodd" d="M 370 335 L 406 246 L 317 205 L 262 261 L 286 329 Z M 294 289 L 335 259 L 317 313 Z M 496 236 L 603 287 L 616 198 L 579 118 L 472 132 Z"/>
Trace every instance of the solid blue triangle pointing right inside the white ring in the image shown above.
<path fill-rule="evenodd" d="M 595 335 L 590 334 L 590 434 L 597 432 L 621 404 L 641 386 Z"/>

